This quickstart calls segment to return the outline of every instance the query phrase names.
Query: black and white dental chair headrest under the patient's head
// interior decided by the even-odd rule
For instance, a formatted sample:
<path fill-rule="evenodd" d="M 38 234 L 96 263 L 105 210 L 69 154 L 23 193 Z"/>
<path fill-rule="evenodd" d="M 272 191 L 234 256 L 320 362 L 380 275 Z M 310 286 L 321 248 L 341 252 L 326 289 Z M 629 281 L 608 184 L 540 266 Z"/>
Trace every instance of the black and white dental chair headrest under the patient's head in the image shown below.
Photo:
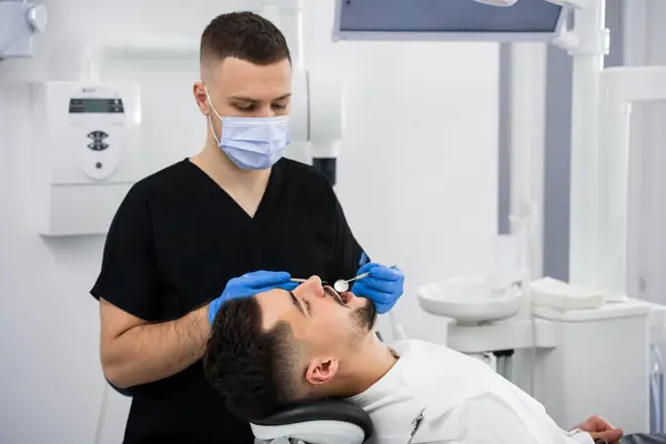
<path fill-rule="evenodd" d="M 131 392 L 109 381 L 123 396 Z M 281 410 L 250 423 L 255 444 L 363 444 L 373 433 L 370 415 L 343 401 L 320 401 Z"/>

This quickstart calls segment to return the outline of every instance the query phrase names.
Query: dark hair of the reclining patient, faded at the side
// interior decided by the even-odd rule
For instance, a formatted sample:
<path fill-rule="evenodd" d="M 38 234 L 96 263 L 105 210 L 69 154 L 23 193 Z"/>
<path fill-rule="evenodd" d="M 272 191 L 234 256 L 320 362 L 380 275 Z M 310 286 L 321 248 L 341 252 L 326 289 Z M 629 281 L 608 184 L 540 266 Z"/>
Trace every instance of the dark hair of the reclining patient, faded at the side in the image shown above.
<path fill-rule="evenodd" d="M 297 359 L 291 326 L 279 322 L 264 331 L 256 299 L 243 297 L 226 301 L 215 315 L 203 369 L 226 408 L 252 421 L 292 402 Z"/>

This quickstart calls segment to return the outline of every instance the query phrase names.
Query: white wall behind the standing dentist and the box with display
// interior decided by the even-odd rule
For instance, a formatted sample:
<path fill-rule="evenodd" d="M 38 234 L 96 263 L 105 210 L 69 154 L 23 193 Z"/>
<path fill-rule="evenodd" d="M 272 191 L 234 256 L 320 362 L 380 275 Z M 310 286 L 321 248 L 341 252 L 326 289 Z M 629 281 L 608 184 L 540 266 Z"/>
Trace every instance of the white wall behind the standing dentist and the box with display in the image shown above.
<path fill-rule="evenodd" d="M 81 44 L 95 32 L 198 38 L 215 14 L 246 2 L 43 2 L 51 20 L 37 57 L 0 62 L 0 442 L 88 444 L 104 387 L 98 307 L 88 295 L 103 238 L 34 234 L 31 142 L 40 129 L 30 119 L 27 81 L 73 79 Z M 496 229 L 497 47 L 333 44 L 332 1 L 306 3 L 313 74 L 340 72 L 346 87 L 337 192 L 373 259 L 407 274 L 398 310 L 407 334 L 436 340 L 443 324 L 417 309 L 416 286 L 483 270 Z M 190 99 L 195 69 L 121 68 L 128 67 L 114 67 L 109 79 L 142 82 L 152 169 L 195 152 L 205 130 Z M 117 443 L 127 402 L 110 401 L 102 441 Z"/>

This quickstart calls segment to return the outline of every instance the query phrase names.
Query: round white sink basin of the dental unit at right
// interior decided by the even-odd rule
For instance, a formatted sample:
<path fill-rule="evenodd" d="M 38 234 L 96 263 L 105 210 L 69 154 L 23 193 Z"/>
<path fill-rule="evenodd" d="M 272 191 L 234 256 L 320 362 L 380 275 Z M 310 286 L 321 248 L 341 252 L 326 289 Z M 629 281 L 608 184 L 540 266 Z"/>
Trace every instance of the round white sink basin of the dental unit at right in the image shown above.
<path fill-rule="evenodd" d="M 453 278 L 416 290 L 418 305 L 428 313 L 458 323 L 481 323 L 514 316 L 521 309 L 517 285 L 493 289 L 480 278 Z"/>

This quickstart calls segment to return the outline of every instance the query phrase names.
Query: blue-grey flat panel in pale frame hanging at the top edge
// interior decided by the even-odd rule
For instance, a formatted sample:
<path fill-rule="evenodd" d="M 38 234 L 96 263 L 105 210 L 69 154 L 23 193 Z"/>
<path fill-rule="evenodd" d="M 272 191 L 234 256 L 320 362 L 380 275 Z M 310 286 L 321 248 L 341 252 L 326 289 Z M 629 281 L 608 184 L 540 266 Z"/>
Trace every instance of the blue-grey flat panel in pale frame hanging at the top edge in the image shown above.
<path fill-rule="evenodd" d="M 565 29 L 571 8 L 584 2 L 337 0 L 333 39 L 552 42 Z"/>

